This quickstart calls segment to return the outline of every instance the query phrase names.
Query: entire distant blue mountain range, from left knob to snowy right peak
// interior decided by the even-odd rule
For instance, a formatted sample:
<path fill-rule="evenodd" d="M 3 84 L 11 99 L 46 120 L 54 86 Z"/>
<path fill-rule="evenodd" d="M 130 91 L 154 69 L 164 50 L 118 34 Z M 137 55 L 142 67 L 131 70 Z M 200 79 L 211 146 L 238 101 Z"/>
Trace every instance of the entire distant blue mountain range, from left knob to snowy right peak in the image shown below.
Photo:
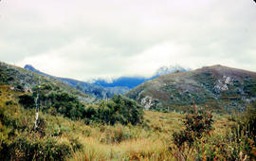
<path fill-rule="evenodd" d="M 85 94 L 92 95 L 96 98 L 112 98 L 114 95 L 124 95 L 130 89 L 136 87 L 140 83 L 143 83 L 147 80 L 153 80 L 163 74 L 173 73 L 175 71 L 187 71 L 179 65 L 176 66 L 162 66 L 156 72 L 155 75 L 151 78 L 144 77 L 120 77 L 118 79 L 112 80 L 112 82 L 108 82 L 107 80 L 95 80 L 93 83 L 82 81 L 82 80 L 74 80 L 69 78 L 61 78 L 46 74 L 41 72 L 40 70 L 33 67 L 31 64 L 26 64 L 24 66 L 25 69 L 40 74 L 42 76 L 46 76 L 48 78 L 53 78 L 56 80 L 61 80 L 65 84 L 74 87 Z"/>

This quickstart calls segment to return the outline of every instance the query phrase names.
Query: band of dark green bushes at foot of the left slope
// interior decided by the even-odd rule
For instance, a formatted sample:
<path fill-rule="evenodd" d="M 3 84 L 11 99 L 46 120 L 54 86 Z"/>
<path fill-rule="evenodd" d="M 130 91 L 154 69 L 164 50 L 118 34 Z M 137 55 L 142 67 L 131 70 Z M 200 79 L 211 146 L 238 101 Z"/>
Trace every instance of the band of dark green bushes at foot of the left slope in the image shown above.
<path fill-rule="evenodd" d="M 114 96 L 109 101 L 99 104 L 84 105 L 77 97 L 44 83 L 33 89 L 33 94 L 19 96 L 19 103 L 25 108 L 34 108 L 34 99 L 39 94 L 42 111 L 53 116 L 63 115 L 73 120 L 83 119 L 85 123 L 92 121 L 114 125 L 119 122 L 127 125 L 142 123 L 142 107 L 130 98 Z"/>

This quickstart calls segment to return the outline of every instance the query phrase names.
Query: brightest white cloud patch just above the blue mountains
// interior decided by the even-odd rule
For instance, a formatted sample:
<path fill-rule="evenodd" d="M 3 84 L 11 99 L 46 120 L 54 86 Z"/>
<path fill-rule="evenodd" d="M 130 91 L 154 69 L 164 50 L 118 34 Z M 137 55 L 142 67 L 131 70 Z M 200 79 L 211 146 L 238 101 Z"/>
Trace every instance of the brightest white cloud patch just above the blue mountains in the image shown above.
<path fill-rule="evenodd" d="M 172 42 L 154 45 L 131 57 L 128 60 L 128 71 L 149 77 L 159 66 L 184 62 L 184 57 L 190 52 L 190 45 L 176 45 Z"/>

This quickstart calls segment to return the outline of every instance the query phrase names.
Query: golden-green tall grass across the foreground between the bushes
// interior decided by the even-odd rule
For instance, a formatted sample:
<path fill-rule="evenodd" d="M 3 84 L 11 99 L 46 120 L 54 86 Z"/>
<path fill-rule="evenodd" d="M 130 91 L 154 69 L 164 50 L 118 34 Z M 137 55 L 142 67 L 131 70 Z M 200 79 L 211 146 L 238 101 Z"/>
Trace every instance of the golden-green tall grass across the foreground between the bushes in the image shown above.
<path fill-rule="evenodd" d="M 41 112 L 42 132 L 30 133 L 35 111 L 22 108 L 16 99 L 20 93 L 11 91 L 9 86 L 0 86 L 0 91 L 0 114 L 5 116 L 0 119 L 1 151 L 5 148 L 2 143 L 20 145 L 18 137 L 16 139 L 19 136 L 27 138 L 27 142 L 23 143 L 26 146 L 36 145 L 38 141 L 44 147 L 52 141 L 60 148 L 56 152 L 66 149 L 66 155 L 60 158 L 64 160 L 176 160 L 176 155 L 180 154 L 174 147 L 173 134 L 186 128 L 183 124 L 186 116 L 183 114 L 145 111 L 142 124 L 111 126 L 96 122 L 85 125 L 80 119 L 72 120 Z M 212 131 L 198 140 L 196 151 L 189 152 L 188 145 L 185 145 L 188 160 L 254 158 L 255 142 L 247 134 L 235 133 L 242 129 L 236 117 L 213 114 L 212 119 Z"/>

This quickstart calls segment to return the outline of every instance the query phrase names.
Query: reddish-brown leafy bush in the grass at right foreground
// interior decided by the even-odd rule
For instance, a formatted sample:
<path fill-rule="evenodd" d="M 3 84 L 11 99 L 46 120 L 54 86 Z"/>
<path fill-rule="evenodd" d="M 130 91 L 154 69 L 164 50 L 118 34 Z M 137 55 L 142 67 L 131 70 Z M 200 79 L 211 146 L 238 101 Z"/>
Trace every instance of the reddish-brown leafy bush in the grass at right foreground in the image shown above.
<path fill-rule="evenodd" d="M 174 145 L 178 148 L 174 156 L 178 160 L 187 160 L 191 152 L 197 153 L 197 159 L 202 159 L 200 140 L 203 135 L 209 135 L 213 123 L 212 115 L 204 110 L 197 111 L 195 108 L 192 114 L 188 114 L 183 121 L 185 130 L 174 133 Z M 187 151 L 186 145 L 188 145 Z M 170 147 L 170 150 L 173 150 Z"/>

